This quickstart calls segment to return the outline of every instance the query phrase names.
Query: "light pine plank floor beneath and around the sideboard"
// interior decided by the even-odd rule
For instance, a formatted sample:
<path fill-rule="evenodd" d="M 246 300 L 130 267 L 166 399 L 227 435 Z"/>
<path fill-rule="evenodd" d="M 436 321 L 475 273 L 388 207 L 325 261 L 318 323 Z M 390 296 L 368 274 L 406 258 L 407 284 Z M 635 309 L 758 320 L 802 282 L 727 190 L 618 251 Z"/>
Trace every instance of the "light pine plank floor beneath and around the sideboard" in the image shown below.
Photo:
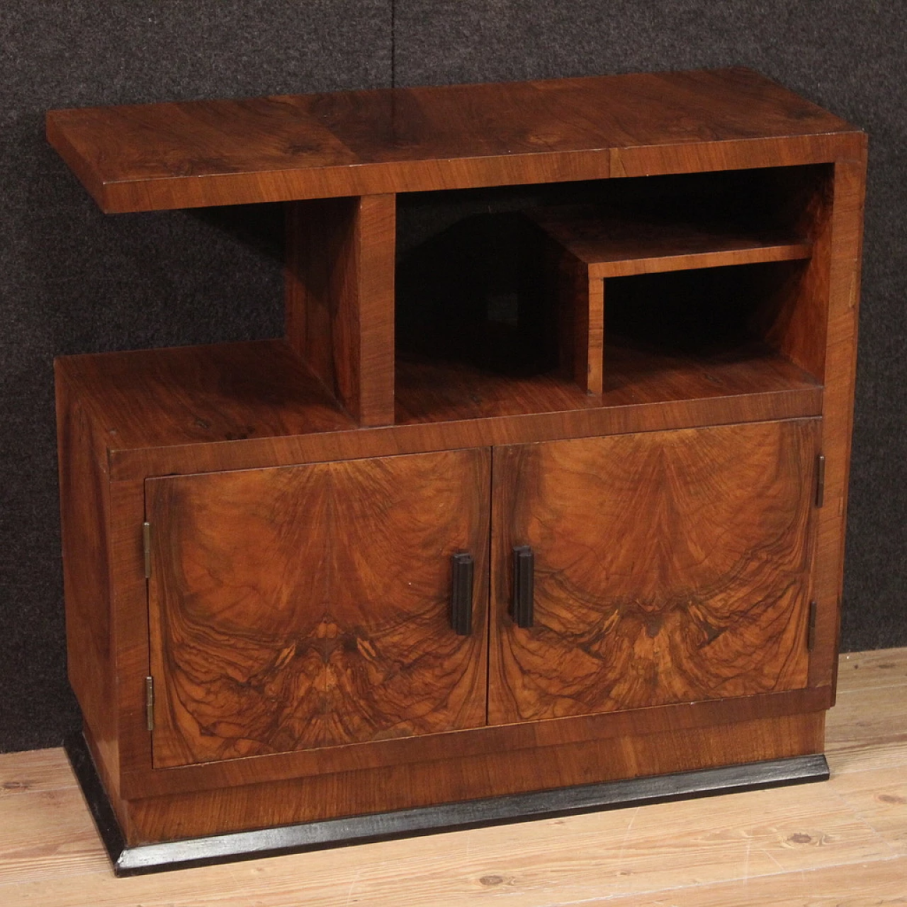
<path fill-rule="evenodd" d="M 0 756 L 0 905 L 907 905 L 907 649 L 844 655 L 832 780 L 114 878 L 63 751 Z"/>

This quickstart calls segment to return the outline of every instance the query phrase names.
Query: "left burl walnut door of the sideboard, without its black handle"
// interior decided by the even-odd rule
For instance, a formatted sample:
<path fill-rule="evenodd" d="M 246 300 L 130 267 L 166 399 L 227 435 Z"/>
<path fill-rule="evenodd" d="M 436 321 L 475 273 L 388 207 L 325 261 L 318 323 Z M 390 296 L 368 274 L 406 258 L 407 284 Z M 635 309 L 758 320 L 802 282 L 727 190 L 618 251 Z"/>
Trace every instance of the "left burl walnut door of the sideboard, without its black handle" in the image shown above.
<path fill-rule="evenodd" d="M 483 725 L 489 475 L 482 448 L 149 479 L 154 766 Z"/>

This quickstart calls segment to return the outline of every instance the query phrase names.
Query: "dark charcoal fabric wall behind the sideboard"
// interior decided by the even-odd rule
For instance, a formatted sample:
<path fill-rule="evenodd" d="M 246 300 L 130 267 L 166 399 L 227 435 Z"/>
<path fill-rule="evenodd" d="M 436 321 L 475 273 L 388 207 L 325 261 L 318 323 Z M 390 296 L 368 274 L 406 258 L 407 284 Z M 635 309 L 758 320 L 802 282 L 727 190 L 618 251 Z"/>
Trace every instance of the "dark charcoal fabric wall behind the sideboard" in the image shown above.
<path fill-rule="evenodd" d="M 907 644 L 907 6 L 847 0 L 3 0 L 0 751 L 56 746 L 53 357 L 274 336 L 279 211 L 105 217 L 52 107 L 744 64 L 871 136 L 844 649 Z"/>

